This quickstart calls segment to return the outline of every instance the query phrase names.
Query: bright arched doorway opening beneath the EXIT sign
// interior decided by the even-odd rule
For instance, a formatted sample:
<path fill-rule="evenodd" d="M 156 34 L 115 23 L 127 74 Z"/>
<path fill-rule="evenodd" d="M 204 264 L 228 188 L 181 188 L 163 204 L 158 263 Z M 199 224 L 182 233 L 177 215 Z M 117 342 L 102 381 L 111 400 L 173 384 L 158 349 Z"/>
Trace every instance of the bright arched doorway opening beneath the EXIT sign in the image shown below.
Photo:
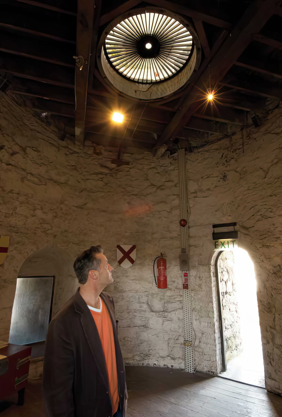
<path fill-rule="evenodd" d="M 220 376 L 265 387 L 257 283 L 247 251 L 220 251 L 216 259 L 222 324 Z"/>

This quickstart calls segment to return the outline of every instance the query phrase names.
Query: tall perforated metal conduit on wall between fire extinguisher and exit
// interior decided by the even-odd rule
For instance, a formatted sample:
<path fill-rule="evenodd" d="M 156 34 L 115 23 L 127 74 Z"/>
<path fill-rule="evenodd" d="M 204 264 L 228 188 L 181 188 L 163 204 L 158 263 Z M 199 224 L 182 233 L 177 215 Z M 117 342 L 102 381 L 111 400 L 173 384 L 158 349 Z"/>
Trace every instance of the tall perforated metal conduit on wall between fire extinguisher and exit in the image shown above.
<path fill-rule="evenodd" d="M 178 171 L 180 186 L 180 219 L 186 219 L 187 225 L 180 227 L 181 251 L 188 254 L 188 206 L 187 206 L 187 173 L 185 149 L 178 151 Z M 184 327 L 184 360 L 185 371 L 195 372 L 193 327 L 192 327 L 192 304 L 190 291 L 189 271 L 182 271 L 182 301 L 183 301 L 183 327 Z"/>

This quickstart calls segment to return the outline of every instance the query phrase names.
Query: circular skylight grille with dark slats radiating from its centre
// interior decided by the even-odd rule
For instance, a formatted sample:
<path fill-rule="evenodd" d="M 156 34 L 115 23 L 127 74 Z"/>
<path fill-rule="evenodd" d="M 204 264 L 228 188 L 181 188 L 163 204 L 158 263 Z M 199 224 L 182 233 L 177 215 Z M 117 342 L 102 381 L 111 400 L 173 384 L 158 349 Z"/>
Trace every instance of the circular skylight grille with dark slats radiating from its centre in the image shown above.
<path fill-rule="evenodd" d="M 105 55 L 120 75 L 136 83 L 157 83 L 178 73 L 192 50 L 190 32 L 160 13 L 142 13 L 107 34 Z"/>

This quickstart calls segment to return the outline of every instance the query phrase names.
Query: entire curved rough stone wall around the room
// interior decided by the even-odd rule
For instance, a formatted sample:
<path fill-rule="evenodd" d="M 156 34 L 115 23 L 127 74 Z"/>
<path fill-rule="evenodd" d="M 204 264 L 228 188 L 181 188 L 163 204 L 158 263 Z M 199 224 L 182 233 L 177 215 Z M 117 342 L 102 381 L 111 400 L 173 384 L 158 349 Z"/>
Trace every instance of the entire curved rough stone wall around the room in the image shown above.
<path fill-rule="evenodd" d="M 237 221 L 239 246 L 255 264 L 266 385 L 280 394 L 281 131 L 277 109 L 261 128 L 242 132 L 244 146 L 240 133 L 187 155 L 196 369 L 221 370 L 212 224 Z M 97 156 L 92 148 L 82 152 L 58 141 L 55 128 L 3 94 L 0 137 L 0 234 L 11 236 L 0 266 L 0 338 L 8 337 L 15 280 L 27 258 L 51 246 L 74 259 L 87 246 L 102 244 L 115 268 L 108 291 L 125 362 L 183 368 L 177 157 L 127 153 L 130 165 L 117 168 L 112 152 Z M 117 244 L 137 245 L 131 268 L 118 266 Z M 168 256 L 167 290 L 156 289 L 152 275 L 160 252 Z"/>

